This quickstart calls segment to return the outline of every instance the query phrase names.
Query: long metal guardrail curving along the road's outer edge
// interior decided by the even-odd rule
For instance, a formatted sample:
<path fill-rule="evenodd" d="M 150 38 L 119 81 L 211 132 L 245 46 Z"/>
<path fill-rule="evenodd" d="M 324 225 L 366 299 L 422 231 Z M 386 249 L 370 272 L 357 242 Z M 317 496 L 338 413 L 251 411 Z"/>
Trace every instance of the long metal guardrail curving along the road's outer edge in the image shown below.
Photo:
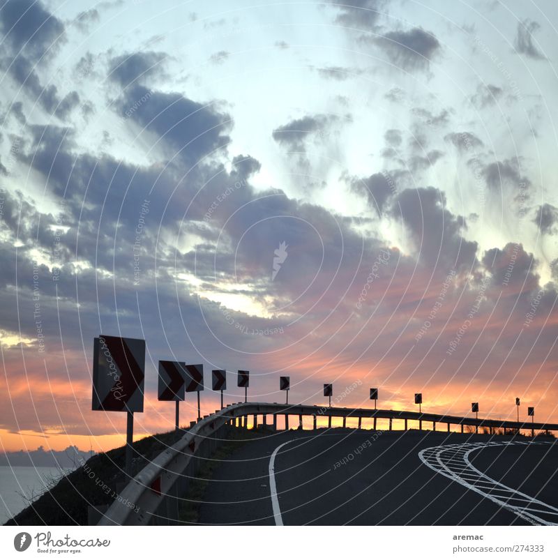
<path fill-rule="evenodd" d="M 391 420 L 469 425 L 504 430 L 552 430 L 558 424 L 513 422 L 467 418 L 445 414 L 381 409 L 317 407 L 310 404 L 277 404 L 241 402 L 216 411 L 195 423 L 179 441 L 160 453 L 120 492 L 98 525 L 168 524 L 178 519 L 180 498 L 186 494 L 189 480 L 195 478 L 203 460 L 210 457 L 220 441 L 226 441 L 225 430 L 237 418 L 252 415 L 325 416 L 340 418 L 388 418 Z M 276 418 L 276 416 L 274 416 Z M 274 422 L 275 423 L 275 422 Z M 245 423 L 246 425 L 246 423 Z M 130 506 L 132 504 L 132 506 Z"/>

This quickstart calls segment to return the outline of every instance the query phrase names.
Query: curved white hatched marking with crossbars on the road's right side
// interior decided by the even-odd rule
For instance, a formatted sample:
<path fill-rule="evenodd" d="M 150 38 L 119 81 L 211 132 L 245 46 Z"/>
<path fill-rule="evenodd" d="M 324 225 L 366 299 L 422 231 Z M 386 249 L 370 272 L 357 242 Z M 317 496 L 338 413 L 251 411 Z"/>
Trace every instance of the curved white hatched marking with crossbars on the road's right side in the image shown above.
<path fill-rule="evenodd" d="M 545 513 L 546 515 L 557 515 L 558 509 L 549 504 L 545 504 L 543 501 L 532 498 L 523 492 L 514 490 L 502 483 L 497 482 L 493 478 L 490 478 L 486 474 L 482 473 L 474 467 L 474 465 L 469 460 L 469 454 L 476 449 L 483 447 L 492 446 L 507 446 L 507 445 L 526 445 L 524 442 L 490 442 L 483 444 L 454 444 L 448 446 L 438 446 L 423 449 L 418 453 L 421 461 L 430 467 L 433 471 L 436 471 L 446 478 L 451 478 L 457 483 L 467 487 L 469 490 L 481 494 L 481 496 L 488 498 L 489 500 L 495 502 L 499 506 L 511 510 L 515 515 L 518 515 L 522 519 L 530 522 L 531 524 L 538 525 L 555 525 L 556 523 L 545 520 L 538 515 L 534 515 L 533 511 L 536 513 Z M 527 444 L 528 445 L 528 444 Z M 542 445 L 539 442 L 533 442 L 531 445 Z M 450 458 L 451 457 L 451 458 Z M 455 457 L 458 457 L 457 459 Z M 448 464 L 448 462 L 452 464 Z M 455 462 L 460 462 L 460 468 L 455 467 Z M 494 492 L 502 492 L 502 494 L 492 494 L 490 492 L 483 492 L 483 490 L 488 490 L 488 485 L 490 490 Z M 505 500 L 505 501 L 504 501 Z M 541 506 L 542 509 L 534 509 L 527 506 L 513 506 L 509 502 L 513 501 L 525 501 L 529 506 L 537 505 Z"/>

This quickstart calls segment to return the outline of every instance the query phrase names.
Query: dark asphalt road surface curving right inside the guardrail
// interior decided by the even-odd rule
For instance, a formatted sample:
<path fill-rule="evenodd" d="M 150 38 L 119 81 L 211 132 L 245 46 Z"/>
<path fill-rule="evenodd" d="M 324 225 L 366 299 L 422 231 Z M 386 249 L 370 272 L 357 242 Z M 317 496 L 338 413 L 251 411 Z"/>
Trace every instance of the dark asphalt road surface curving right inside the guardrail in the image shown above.
<path fill-rule="evenodd" d="M 490 439 L 509 440 L 502 436 Z M 433 471 L 418 457 L 424 448 L 478 441 L 489 441 L 489 437 L 414 430 L 278 432 L 250 441 L 220 464 L 206 488 L 199 521 L 285 525 L 528 524 L 514 511 Z M 281 444 L 285 445 L 276 451 Z M 275 512 L 270 488 L 273 451 Z M 556 504 L 558 444 L 496 446 L 474 451 L 471 460 L 476 469 L 486 469 L 495 480 L 502 478 L 514 489 L 521 486 L 522 492 Z"/>

